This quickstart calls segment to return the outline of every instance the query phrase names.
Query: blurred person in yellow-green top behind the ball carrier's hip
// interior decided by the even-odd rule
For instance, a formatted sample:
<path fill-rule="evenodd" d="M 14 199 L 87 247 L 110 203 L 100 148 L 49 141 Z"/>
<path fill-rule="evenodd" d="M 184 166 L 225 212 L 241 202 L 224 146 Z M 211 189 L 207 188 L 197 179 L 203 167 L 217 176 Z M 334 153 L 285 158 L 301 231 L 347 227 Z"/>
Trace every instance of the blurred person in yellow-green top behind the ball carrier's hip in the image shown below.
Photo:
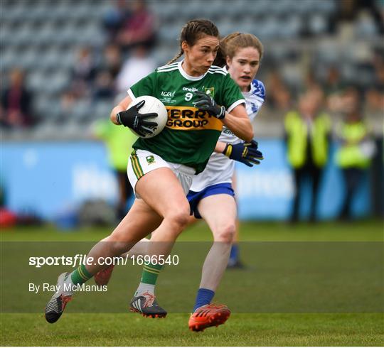
<path fill-rule="evenodd" d="M 129 129 L 112 124 L 109 119 L 97 121 L 94 134 L 97 138 L 105 141 L 110 166 L 117 175 L 119 202 L 116 207 L 116 215 L 121 220 L 127 214 L 128 200 L 134 196 L 127 176 L 127 163 L 128 157 L 132 152 L 132 145 L 136 141 L 137 136 L 132 131 L 129 131 Z"/>

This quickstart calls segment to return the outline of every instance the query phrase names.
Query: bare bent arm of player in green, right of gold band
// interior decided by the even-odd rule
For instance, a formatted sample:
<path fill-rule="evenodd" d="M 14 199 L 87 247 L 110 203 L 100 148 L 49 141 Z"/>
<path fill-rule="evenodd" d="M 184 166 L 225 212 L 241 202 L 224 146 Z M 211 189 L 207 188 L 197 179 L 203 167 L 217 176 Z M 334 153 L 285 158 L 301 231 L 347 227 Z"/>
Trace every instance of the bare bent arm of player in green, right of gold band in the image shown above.
<path fill-rule="evenodd" d="M 233 134 L 238 138 L 244 141 L 252 141 L 253 128 L 244 105 L 238 105 L 230 112 L 230 114 L 225 112 L 223 124 L 233 131 Z"/>

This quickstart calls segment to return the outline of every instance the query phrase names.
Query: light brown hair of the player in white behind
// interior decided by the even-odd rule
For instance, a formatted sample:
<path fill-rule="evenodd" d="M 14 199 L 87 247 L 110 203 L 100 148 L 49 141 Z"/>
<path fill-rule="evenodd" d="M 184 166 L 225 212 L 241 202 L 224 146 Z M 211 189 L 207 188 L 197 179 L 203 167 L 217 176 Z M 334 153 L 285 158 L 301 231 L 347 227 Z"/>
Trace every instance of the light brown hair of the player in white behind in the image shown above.
<path fill-rule="evenodd" d="M 254 35 L 248 33 L 231 33 L 222 40 L 220 40 L 220 48 L 218 50 L 218 55 L 216 55 L 213 65 L 218 65 L 223 67 L 226 65 L 226 58 L 233 58 L 236 54 L 236 51 L 239 48 L 253 47 L 259 51 L 260 60 L 262 59 L 262 54 L 264 53 L 264 48 L 261 41 Z"/>

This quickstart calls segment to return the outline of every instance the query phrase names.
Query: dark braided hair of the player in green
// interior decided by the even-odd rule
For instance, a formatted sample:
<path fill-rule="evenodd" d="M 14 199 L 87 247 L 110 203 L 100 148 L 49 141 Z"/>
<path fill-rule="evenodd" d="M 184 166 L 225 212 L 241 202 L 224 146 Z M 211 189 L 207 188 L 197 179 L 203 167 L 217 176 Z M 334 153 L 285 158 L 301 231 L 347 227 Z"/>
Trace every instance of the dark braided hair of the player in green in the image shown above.
<path fill-rule="evenodd" d="M 205 36 L 215 36 L 216 38 L 219 37 L 218 27 L 215 26 L 213 22 L 211 22 L 209 19 L 192 19 L 191 21 L 188 21 L 185 26 L 181 29 L 180 33 L 180 52 L 174 56 L 169 62 L 166 64 L 171 64 L 173 62 L 176 62 L 178 58 L 180 58 L 184 51 L 183 48 L 181 48 L 181 44 L 183 41 L 186 41 L 188 45 L 193 46 L 196 41 Z"/>

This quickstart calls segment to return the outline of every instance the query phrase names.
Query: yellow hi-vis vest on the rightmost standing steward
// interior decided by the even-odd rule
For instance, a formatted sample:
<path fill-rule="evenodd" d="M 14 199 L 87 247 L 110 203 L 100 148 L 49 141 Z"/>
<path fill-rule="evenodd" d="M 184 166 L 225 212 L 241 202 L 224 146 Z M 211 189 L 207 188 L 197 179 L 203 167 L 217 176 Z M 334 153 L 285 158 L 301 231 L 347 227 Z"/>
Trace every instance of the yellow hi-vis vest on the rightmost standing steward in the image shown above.
<path fill-rule="evenodd" d="M 338 136 L 343 140 L 343 144 L 336 153 L 336 163 L 339 167 L 363 169 L 370 165 L 370 156 L 363 151 L 367 135 L 368 126 L 364 121 L 341 124 Z"/>

